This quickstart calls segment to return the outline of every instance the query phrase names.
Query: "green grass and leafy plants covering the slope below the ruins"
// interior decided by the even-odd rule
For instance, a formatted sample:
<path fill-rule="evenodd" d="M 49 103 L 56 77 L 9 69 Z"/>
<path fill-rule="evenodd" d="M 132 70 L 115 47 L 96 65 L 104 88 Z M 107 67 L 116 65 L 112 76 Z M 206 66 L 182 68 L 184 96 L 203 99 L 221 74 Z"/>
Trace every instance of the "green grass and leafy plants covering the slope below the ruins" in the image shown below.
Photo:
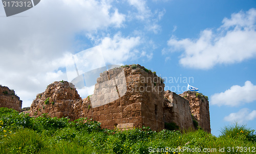
<path fill-rule="evenodd" d="M 175 153 L 256 151 L 254 131 L 237 123 L 224 127 L 222 135 L 215 137 L 203 130 L 157 133 L 148 127 L 121 132 L 101 129 L 100 123 L 91 120 L 84 123 L 85 120 L 80 118 L 70 122 L 67 118 L 47 115 L 32 118 L 0 108 L 0 153 L 174 153 L 169 151 L 172 149 Z M 241 149 L 237 152 L 237 147 L 243 147 L 244 152 L 239 152 Z M 220 152 L 223 148 L 224 152 Z M 199 149 L 208 152 L 191 152 Z"/>

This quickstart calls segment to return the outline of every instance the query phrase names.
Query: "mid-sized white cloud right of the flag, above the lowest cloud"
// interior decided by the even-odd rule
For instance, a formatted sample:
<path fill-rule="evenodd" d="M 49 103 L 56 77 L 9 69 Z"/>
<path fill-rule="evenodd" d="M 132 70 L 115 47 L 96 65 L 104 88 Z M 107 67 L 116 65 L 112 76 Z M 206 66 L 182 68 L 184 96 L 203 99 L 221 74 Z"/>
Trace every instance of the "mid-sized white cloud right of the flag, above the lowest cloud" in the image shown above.
<path fill-rule="evenodd" d="M 225 92 L 216 93 L 210 97 L 211 105 L 239 106 L 256 100 L 256 85 L 246 81 L 244 86 L 234 85 Z"/>

